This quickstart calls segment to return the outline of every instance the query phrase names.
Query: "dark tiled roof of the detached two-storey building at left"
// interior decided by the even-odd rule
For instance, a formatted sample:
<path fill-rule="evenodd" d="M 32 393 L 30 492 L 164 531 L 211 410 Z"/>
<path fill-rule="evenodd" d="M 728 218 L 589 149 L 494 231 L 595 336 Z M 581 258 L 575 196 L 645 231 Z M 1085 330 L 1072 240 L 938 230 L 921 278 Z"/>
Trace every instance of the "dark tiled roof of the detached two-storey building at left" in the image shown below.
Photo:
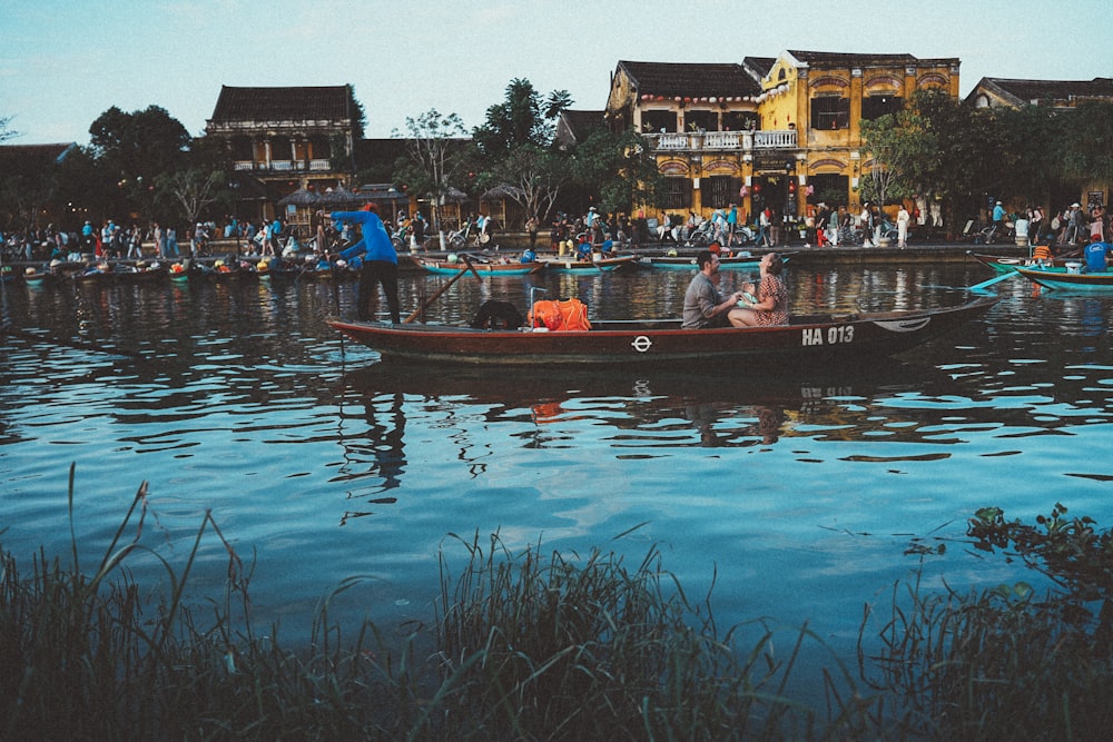
<path fill-rule="evenodd" d="M 348 87 L 308 88 L 220 87 L 213 111 L 214 122 L 321 121 L 358 116 L 349 106 Z"/>

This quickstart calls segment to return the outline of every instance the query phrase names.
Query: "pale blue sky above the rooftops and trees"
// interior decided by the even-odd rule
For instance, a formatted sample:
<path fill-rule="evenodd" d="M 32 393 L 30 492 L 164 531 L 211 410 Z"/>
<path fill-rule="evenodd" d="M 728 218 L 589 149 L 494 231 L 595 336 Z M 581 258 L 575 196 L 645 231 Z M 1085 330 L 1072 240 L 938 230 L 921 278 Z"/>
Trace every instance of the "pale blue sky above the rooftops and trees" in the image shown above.
<path fill-rule="evenodd" d="M 1111 29 L 1106 0 L 0 0 L 0 117 L 11 144 L 85 145 L 109 107 L 157 105 L 199 135 L 221 85 L 351 82 L 367 136 L 388 137 L 431 108 L 479 126 L 513 78 L 598 110 L 621 59 L 785 49 L 958 57 L 965 96 L 983 77 L 1113 77 Z"/>

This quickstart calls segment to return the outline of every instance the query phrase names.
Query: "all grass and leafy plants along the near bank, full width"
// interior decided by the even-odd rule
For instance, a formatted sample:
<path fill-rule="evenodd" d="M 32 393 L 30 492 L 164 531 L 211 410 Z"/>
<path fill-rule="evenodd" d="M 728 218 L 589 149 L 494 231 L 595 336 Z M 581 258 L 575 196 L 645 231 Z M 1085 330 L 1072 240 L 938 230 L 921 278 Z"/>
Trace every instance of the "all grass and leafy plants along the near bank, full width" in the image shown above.
<path fill-rule="evenodd" d="M 70 489 L 72 517 L 72 476 Z M 351 578 L 308 642 L 284 646 L 277 626 L 253 627 L 250 570 L 211 516 L 171 565 L 142 543 L 148 506 L 144 484 L 96 568 L 76 540 L 26 571 L 3 553 L 4 739 L 1096 739 L 1113 713 L 1110 614 L 1091 610 L 1107 596 L 1111 537 L 1061 506 L 1036 527 L 988 508 L 969 530 L 1045 571 L 1053 593 L 899 584 L 880 636 L 863 631 L 857 673 L 834 655 L 804 666 L 801 647 L 823 647 L 807 627 L 720 630 L 711 596 L 688 595 L 656 547 L 628 564 L 515 553 L 498 534 L 450 542 L 466 557 L 455 574 L 442 553 L 431 626 L 342 626 L 329 606 Z M 226 592 L 186 605 L 214 538 Z M 140 556 L 165 593 L 131 577 Z M 794 698 L 799 673 L 821 677 L 818 704 Z"/>

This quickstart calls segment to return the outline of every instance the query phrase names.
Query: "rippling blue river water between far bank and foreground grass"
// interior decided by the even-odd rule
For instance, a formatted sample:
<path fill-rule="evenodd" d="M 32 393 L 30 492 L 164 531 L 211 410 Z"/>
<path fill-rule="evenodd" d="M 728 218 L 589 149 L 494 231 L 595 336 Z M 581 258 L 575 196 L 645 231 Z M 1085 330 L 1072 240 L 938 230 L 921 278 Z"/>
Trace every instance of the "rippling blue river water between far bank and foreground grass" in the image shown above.
<path fill-rule="evenodd" d="M 974 263 L 788 270 L 794 311 L 958 304 L 989 277 Z M 688 279 L 469 276 L 429 317 L 524 307 L 531 286 L 592 317 L 679 314 Z M 404 277 L 403 314 L 445 280 Z M 334 615 L 429 621 L 439 552 L 466 561 L 451 534 L 634 561 L 656 543 L 690 595 L 715 582 L 720 626 L 808 622 L 850 659 L 863 606 L 884 612 L 919 564 L 914 538 L 948 545 L 927 584 L 963 591 L 1017 577 L 962 543 L 978 507 L 1031 520 L 1061 502 L 1113 522 L 1113 298 L 1022 278 L 987 290 L 1003 299 L 984 320 L 898 362 L 661 375 L 380 363 L 324 324 L 354 315 L 354 284 L 9 285 L 23 334 L 2 340 L 0 542 L 22 564 L 39 546 L 69 558 L 75 464 L 90 568 L 146 481 L 145 543 L 180 563 L 211 512 L 254 560 L 255 619 L 294 636 L 355 575 Z M 225 565 L 205 538 L 190 596 L 218 595 Z M 134 571 L 161 574 L 141 555 Z"/>

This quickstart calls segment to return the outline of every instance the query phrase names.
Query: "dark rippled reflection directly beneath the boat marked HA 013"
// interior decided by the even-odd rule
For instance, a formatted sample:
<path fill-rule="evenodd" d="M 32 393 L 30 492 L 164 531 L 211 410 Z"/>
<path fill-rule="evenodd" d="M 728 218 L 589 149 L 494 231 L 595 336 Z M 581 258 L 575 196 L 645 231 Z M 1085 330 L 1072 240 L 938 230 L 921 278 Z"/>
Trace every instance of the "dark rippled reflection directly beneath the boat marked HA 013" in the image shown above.
<path fill-rule="evenodd" d="M 405 398 L 408 409 L 443 405 L 461 421 L 533 424 L 539 432 L 580 425 L 610 425 L 623 433 L 604 436 L 621 448 L 674 446 L 754 446 L 795 437 L 792 427 L 812 423 L 841 436 L 871 425 L 864 398 L 923 389 L 932 368 L 884 359 L 871 366 L 870 380 L 849 369 L 808 375 L 785 373 L 592 372 L 505 374 L 461 368 L 445 374 L 417 363 L 372 364 L 348 374 L 346 383 L 367 405 Z M 940 380 L 949 380 L 943 377 Z M 848 407 L 847 398 L 854 398 Z M 851 422 L 860 418 L 863 422 Z M 814 435 L 809 432 L 808 435 Z M 567 445 L 567 444 L 562 444 Z"/>

